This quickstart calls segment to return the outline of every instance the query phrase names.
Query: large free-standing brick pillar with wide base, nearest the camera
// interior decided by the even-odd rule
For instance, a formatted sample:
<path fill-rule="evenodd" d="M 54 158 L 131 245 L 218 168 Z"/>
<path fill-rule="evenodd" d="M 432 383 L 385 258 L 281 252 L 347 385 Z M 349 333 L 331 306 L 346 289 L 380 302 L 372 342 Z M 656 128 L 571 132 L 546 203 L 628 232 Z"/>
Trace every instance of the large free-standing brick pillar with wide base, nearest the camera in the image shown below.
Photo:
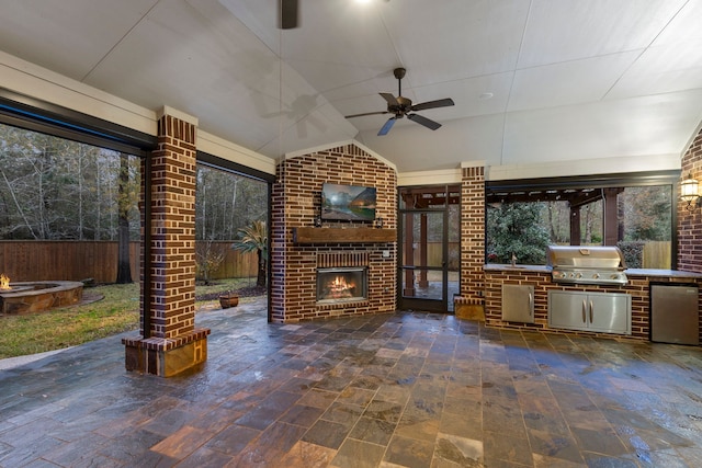
<path fill-rule="evenodd" d="M 147 179 L 151 194 L 151 267 L 150 275 L 141 271 L 141 335 L 122 340 L 127 370 L 161 377 L 204 363 L 210 334 L 208 329 L 195 328 L 196 121 L 180 119 L 169 111 L 165 109 L 158 121 L 151 171 L 141 176 L 143 198 Z"/>

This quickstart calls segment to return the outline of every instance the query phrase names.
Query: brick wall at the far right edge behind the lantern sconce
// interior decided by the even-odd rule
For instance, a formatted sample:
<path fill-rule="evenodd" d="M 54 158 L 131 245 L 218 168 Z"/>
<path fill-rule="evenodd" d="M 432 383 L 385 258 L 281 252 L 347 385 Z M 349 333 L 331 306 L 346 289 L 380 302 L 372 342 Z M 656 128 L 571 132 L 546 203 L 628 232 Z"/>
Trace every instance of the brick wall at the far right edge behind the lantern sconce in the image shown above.
<path fill-rule="evenodd" d="M 682 157 L 681 180 L 692 174 L 702 182 L 702 130 Z M 678 270 L 702 273 L 702 208 L 678 203 Z"/>

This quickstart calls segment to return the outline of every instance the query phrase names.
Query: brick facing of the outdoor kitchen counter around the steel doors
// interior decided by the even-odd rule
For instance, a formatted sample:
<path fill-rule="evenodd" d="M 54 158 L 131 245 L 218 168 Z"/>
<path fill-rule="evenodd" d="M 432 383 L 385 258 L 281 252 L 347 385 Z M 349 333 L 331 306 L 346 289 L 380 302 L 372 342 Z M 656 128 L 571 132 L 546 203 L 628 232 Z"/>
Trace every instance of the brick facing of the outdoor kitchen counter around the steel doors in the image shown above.
<path fill-rule="evenodd" d="M 649 282 L 695 283 L 691 278 L 670 278 L 668 276 L 630 276 L 626 286 L 581 285 L 566 286 L 553 283 L 551 273 L 541 272 L 485 272 L 485 322 L 497 328 L 511 328 L 523 330 L 558 331 L 575 334 L 612 336 L 608 333 L 593 333 L 587 331 L 550 329 L 548 328 L 548 292 L 574 290 L 590 293 L 626 293 L 632 296 L 632 339 L 648 340 L 650 332 L 650 303 Z M 702 279 L 697 279 L 702 289 Z M 516 284 L 534 287 L 534 323 L 502 321 L 502 284 Z M 700 295 L 700 308 L 702 310 L 702 295 Z M 700 322 L 702 326 L 702 321 Z M 620 336 L 620 335 L 618 335 Z M 702 330 L 700 331 L 702 338 Z"/>

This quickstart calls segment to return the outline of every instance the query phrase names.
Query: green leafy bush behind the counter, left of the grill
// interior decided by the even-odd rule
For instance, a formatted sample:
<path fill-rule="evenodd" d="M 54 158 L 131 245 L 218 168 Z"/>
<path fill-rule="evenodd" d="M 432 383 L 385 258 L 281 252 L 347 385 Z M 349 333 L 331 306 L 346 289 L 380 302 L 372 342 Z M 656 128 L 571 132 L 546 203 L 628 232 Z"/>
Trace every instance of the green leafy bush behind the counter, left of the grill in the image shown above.
<path fill-rule="evenodd" d="M 487 252 L 491 263 L 544 264 L 548 231 L 541 224 L 543 203 L 511 203 L 487 210 Z"/>

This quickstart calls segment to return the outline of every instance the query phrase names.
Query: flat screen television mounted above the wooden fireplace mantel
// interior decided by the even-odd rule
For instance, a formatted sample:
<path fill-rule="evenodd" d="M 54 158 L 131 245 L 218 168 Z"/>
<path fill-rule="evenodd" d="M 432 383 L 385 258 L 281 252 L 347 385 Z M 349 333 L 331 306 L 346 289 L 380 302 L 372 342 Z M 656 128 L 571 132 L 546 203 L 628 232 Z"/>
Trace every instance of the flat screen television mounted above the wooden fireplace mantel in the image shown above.
<path fill-rule="evenodd" d="M 321 219 L 372 221 L 375 219 L 375 187 L 325 183 L 321 186 Z"/>

